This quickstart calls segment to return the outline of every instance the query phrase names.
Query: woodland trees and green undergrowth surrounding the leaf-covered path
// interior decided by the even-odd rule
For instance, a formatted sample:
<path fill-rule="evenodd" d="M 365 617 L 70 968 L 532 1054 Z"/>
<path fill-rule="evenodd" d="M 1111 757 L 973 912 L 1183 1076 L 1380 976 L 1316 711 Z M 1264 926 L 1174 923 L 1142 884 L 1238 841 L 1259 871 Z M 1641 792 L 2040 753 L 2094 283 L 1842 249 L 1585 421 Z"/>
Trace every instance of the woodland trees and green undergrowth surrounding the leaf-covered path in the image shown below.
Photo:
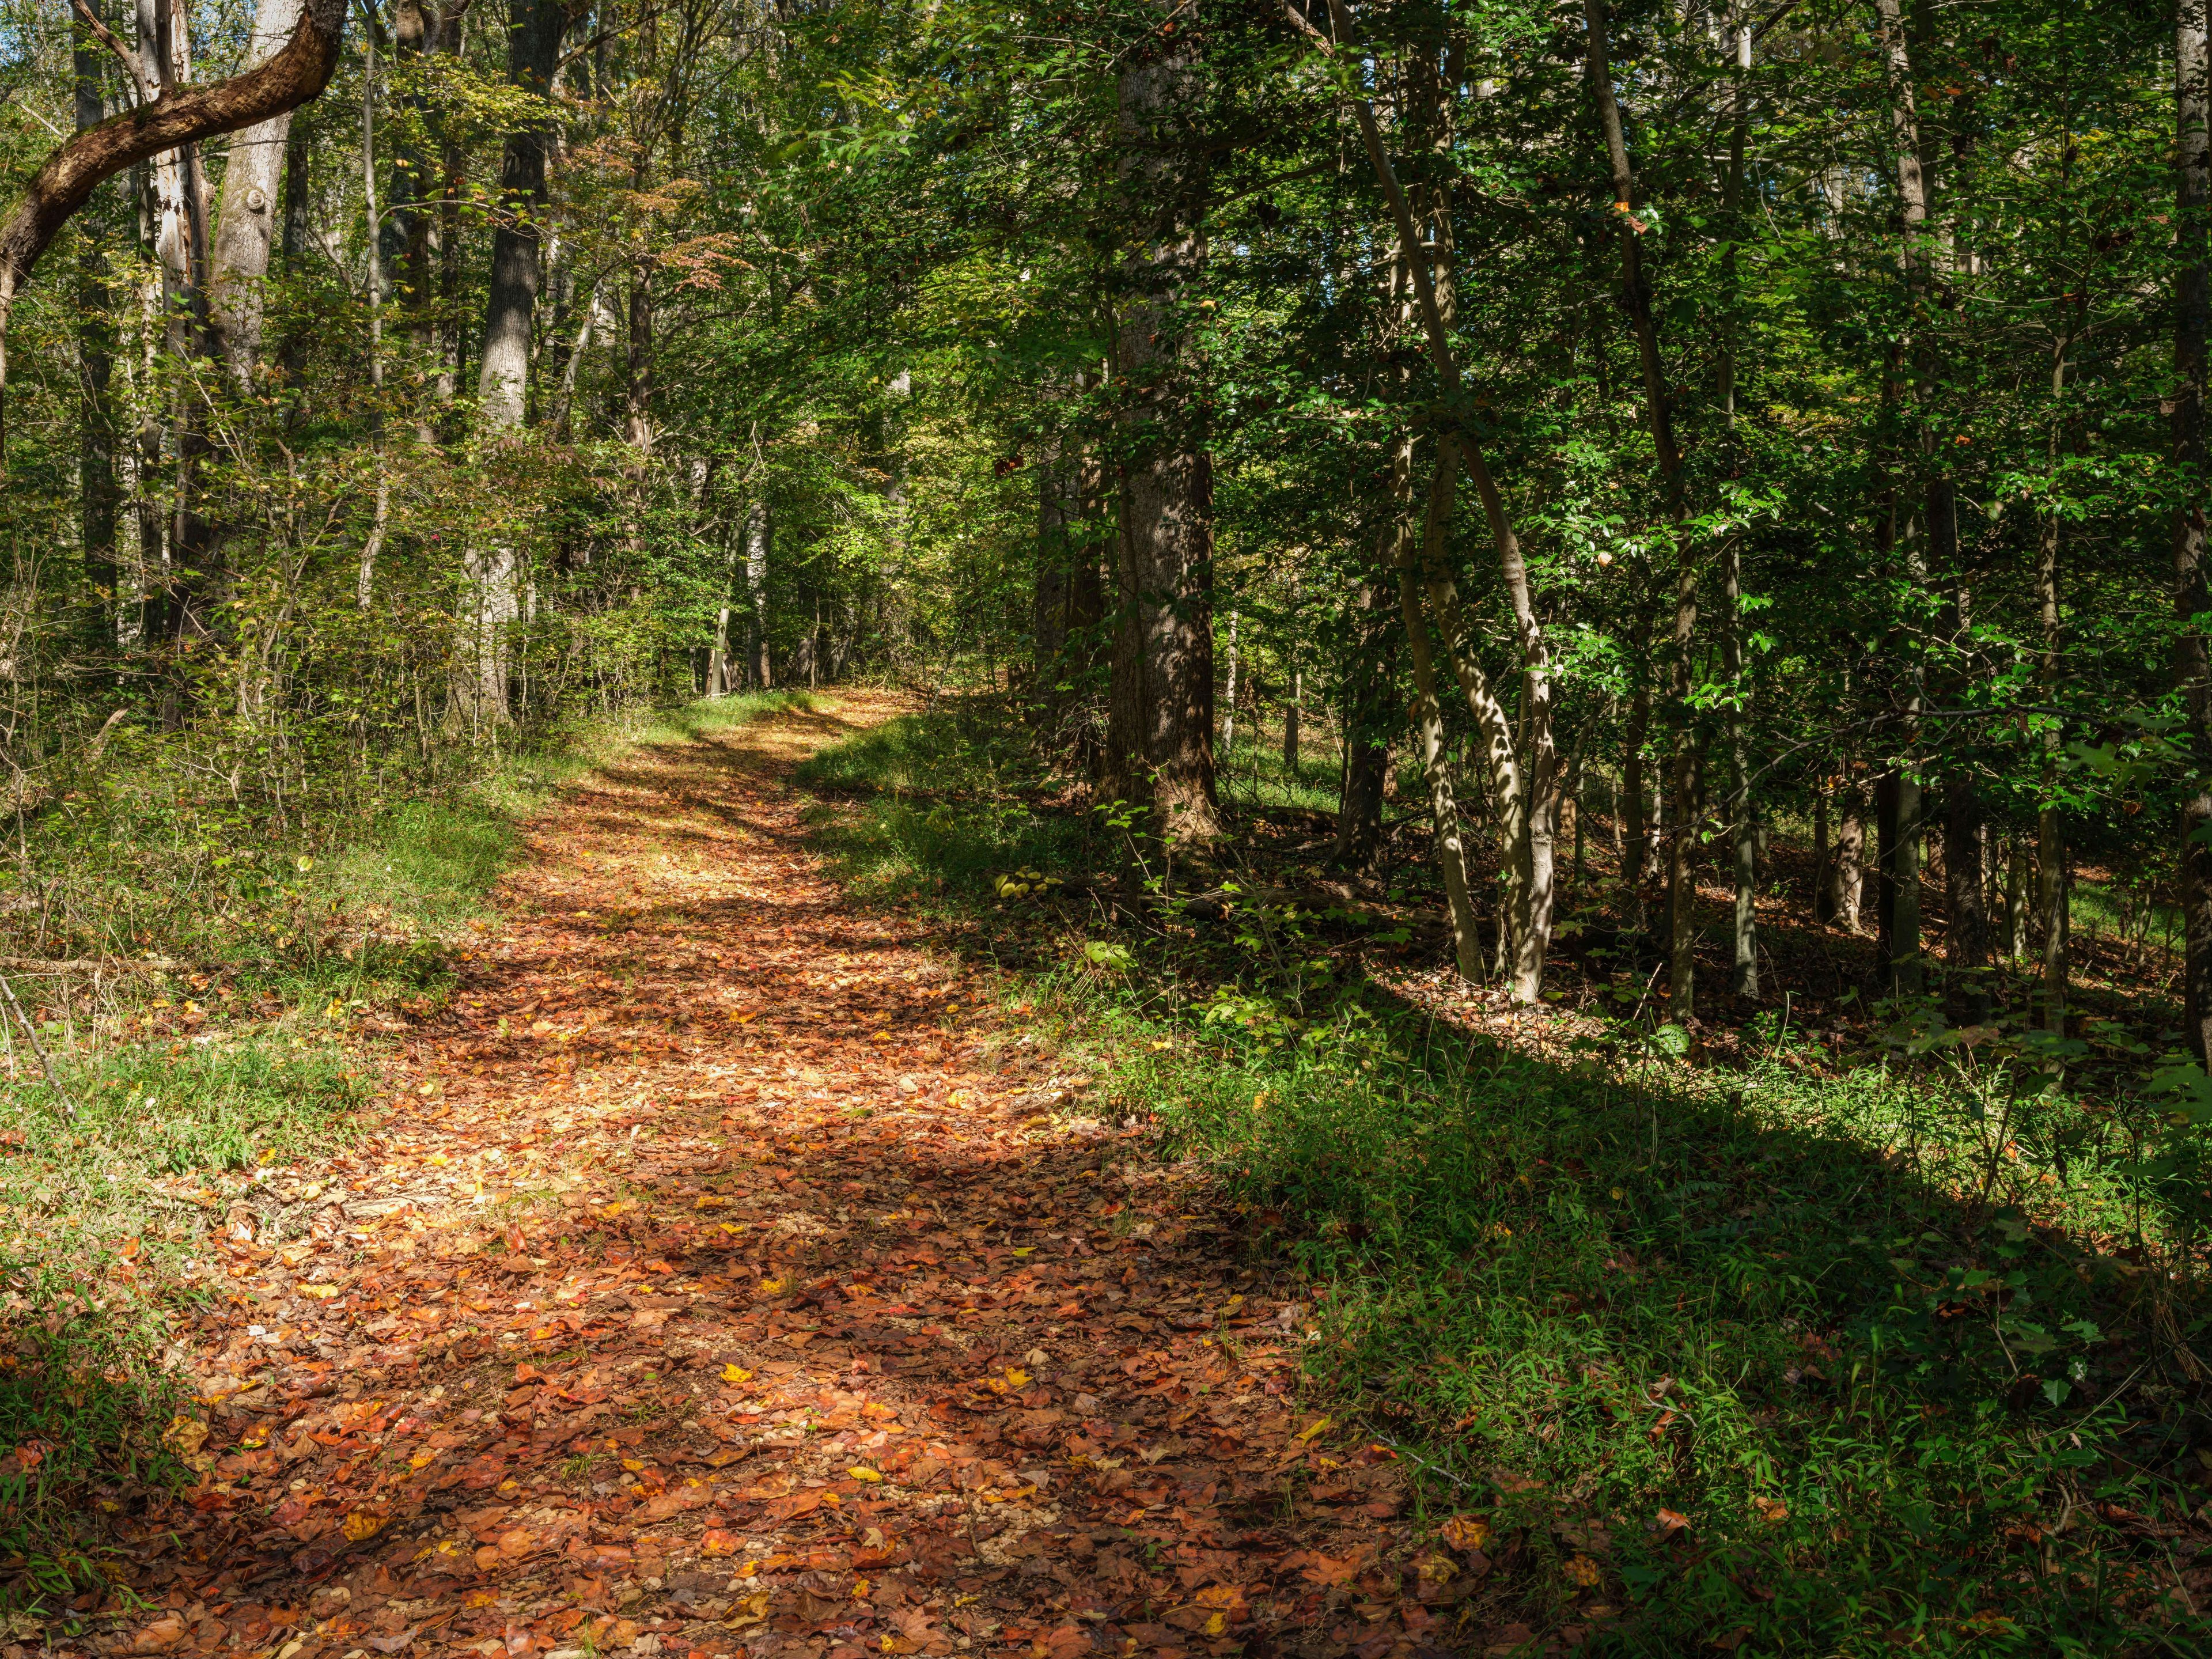
<path fill-rule="evenodd" d="M 177 1473 L 126 1170 L 307 1181 L 562 776 L 867 679 L 825 847 L 1537 1637 L 2199 1617 L 2203 0 L 20 0 L 0 95 L 20 1559 Z"/>

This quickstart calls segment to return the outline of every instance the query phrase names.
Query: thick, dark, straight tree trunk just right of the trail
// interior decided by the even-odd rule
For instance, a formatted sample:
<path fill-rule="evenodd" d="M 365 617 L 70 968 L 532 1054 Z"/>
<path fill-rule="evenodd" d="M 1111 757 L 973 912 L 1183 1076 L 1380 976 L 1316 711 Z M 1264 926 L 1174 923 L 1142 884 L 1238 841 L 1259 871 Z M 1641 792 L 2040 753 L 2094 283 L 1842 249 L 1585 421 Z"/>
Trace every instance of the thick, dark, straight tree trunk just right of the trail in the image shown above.
<path fill-rule="evenodd" d="M 1164 4 L 1172 15 L 1172 7 Z M 1214 812 L 1214 480 L 1197 383 L 1190 301 L 1206 270 L 1206 71 L 1199 31 L 1179 27 L 1121 73 L 1121 195 L 1135 246 L 1121 263 L 1115 367 L 1121 383 L 1124 604 L 1133 611 L 1135 741 L 1152 830 L 1212 841 Z M 1139 799 L 1130 794 L 1130 799 Z"/>

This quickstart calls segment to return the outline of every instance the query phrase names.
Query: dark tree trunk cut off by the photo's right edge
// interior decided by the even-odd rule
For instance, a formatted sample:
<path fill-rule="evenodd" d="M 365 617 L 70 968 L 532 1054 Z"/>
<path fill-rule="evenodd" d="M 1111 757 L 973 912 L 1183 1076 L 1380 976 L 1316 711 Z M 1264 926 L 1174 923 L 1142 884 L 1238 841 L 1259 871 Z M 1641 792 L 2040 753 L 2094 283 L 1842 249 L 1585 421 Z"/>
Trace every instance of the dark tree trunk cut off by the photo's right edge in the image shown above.
<path fill-rule="evenodd" d="M 2188 706 L 2194 776 L 2181 801 L 2179 876 L 2183 931 L 2181 1035 L 2212 1064 L 2212 653 L 2194 617 L 2212 611 L 2205 584 L 2205 332 L 2212 281 L 2205 270 L 2205 212 L 2212 208 L 2212 119 L 2208 119 L 2205 0 L 2179 0 L 2174 38 L 2174 394 L 2170 403 L 2174 473 L 2188 491 L 2172 524 L 2174 688 Z M 2064 922 L 2064 918 L 2059 918 Z M 2064 927 L 2053 929 L 2064 933 Z M 2046 956 L 2051 947 L 2046 945 Z M 2048 991 L 2046 991 L 2048 995 Z"/>

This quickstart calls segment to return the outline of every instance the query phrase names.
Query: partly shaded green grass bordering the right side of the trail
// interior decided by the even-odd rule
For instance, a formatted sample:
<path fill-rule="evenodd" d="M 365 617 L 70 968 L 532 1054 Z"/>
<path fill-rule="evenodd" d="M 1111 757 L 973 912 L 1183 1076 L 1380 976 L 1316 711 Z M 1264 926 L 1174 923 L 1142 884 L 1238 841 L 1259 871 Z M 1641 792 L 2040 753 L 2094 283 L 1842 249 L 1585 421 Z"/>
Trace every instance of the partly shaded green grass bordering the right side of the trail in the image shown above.
<path fill-rule="evenodd" d="M 1343 969 L 1294 1009 L 1259 925 L 998 905 L 989 874 L 1079 830 L 1009 745 L 962 763 L 978 726 L 821 757 L 825 849 L 1051 964 L 1013 987 L 1031 1033 L 1217 1172 L 1314 1294 L 1316 1400 L 1402 1451 L 1429 1520 L 1484 1515 L 1540 1621 L 1621 1655 L 2199 1650 L 2201 1130 L 2026 1033 L 1838 1053 L 1770 1018 L 1723 1073 L 1628 1026 L 1473 1042 Z"/>

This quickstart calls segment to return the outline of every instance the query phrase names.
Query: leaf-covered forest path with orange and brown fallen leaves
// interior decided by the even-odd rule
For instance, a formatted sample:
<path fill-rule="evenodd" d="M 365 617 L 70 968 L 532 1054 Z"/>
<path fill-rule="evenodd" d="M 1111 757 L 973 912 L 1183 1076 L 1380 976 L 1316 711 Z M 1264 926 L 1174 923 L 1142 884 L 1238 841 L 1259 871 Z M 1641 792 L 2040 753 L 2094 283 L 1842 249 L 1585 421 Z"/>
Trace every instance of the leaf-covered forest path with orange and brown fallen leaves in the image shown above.
<path fill-rule="evenodd" d="M 204 1473 L 95 1648 L 1484 1646 L 1486 1562 L 1407 1559 L 1234 1217 L 803 849 L 792 765 L 898 708 L 641 745 L 531 825 L 312 1234 L 228 1239 Z"/>

